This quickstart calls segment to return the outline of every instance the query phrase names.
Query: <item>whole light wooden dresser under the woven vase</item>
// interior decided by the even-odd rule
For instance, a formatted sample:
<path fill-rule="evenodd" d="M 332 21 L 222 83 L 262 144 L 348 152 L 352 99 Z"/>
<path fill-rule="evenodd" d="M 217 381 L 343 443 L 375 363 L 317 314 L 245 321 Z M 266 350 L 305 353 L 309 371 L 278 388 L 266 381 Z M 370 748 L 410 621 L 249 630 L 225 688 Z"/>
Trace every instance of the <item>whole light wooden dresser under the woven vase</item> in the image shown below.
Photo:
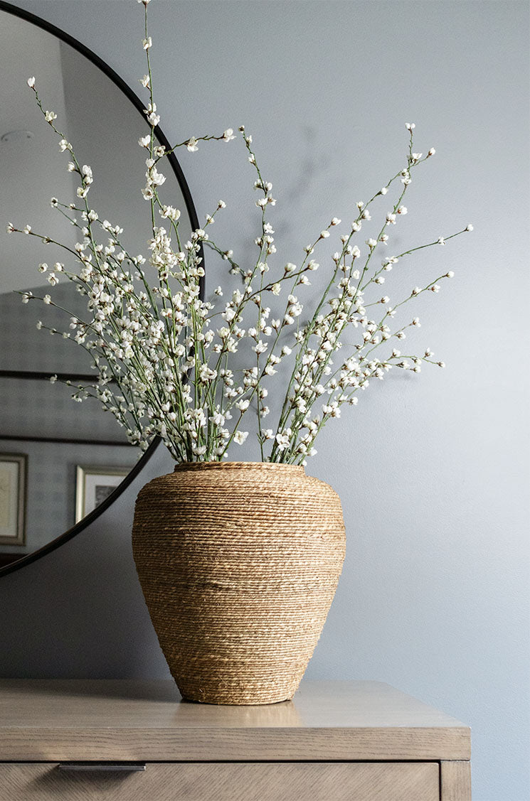
<path fill-rule="evenodd" d="M 469 729 L 379 682 L 206 706 L 173 682 L 0 681 L 1 801 L 469 801 Z"/>

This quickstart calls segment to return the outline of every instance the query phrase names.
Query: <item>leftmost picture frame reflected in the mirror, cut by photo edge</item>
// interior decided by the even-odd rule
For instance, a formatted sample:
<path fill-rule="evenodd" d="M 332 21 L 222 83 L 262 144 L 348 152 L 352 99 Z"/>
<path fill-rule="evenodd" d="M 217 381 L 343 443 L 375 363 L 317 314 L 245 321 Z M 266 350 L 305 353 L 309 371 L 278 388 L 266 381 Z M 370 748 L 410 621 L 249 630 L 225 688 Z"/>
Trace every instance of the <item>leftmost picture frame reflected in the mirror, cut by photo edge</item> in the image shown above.
<path fill-rule="evenodd" d="M 26 545 L 27 454 L 0 453 L 0 545 Z"/>

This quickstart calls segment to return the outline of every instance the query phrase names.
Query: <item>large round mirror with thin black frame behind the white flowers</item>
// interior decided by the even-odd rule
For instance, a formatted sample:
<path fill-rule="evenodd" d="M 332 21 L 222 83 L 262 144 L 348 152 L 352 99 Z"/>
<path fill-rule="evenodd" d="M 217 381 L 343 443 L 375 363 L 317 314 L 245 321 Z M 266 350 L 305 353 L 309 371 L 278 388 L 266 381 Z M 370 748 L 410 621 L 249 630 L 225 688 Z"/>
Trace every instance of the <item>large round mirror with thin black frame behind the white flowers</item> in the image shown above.
<path fill-rule="evenodd" d="M 54 244 L 7 234 L 8 222 L 72 248 L 79 229 L 51 207 L 75 199 L 68 153 L 27 86 L 35 76 L 46 109 L 91 166 L 91 207 L 123 228 L 131 254 L 145 255 L 151 236 L 144 186 L 148 133 L 144 103 L 89 50 L 32 14 L 0 2 L 0 574 L 47 553 L 79 533 L 131 481 L 151 455 L 129 445 L 114 417 L 71 387 L 92 380 L 90 359 L 65 340 L 70 320 L 50 305 L 22 305 L 22 292 L 52 292 L 42 263 L 66 261 Z M 139 114 L 140 111 L 140 114 Z M 169 147 L 157 129 L 159 142 Z M 168 202 L 180 208 L 183 235 L 198 227 L 192 199 L 173 155 L 166 168 Z M 73 258 L 73 257 L 72 257 Z M 42 271 L 41 267 L 41 271 Z M 86 300 L 65 281 L 55 304 L 83 317 Z M 51 335 L 49 329 L 57 333 Z M 53 376 L 51 380 L 51 376 Z M 57 376 L 57 380 L 55 380 Z M 61 533 L 63 532 L 63 533 Z"/>

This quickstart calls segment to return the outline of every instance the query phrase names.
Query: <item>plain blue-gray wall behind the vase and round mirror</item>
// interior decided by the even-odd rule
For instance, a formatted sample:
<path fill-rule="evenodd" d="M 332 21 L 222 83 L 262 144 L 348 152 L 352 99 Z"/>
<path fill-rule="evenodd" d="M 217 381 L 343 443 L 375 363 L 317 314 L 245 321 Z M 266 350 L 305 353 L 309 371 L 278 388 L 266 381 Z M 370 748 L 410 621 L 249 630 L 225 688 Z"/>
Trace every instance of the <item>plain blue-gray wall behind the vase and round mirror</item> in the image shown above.
<path fill-rule="evenodd" d="M 136 2 L 18 2 L 139 86 Z M 281 199 L 285 260 L 390 175 L 405 121 L 419 150 L 437 148 L 411 187 L 407 241 L 475 224 L 404 268 L 411 286 L 455 270 L 419 308 L 419 341 L 447 369 L 370 388 L 308 467 L 342 497 L 348 554 L 307 675 L 386 681 L 470 723 L 475 801 L 525 801 L 528 4 L 156 0 L 150 11 L 164 130 L 245 122 Z M 182 164 L 200 218 L 233 199 L 216 233 L 243 251 L 255 210 L 237 143 Z M 2 579 L 2 674 L 167 674 L 128 537 L 135 493 L 169 468 L 160 453 L 90 530 Z"/>

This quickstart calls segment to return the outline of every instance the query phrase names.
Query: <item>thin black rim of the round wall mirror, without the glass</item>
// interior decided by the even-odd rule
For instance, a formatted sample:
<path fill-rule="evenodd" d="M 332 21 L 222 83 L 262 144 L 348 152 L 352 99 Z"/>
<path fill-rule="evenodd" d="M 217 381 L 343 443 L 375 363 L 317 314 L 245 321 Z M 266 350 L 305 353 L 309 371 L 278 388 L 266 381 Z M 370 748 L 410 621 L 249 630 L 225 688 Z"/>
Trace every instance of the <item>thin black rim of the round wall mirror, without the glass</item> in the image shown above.
<path fill-rule="evenodd" d="M 99 67 L 99 69 L 107 75 L 107 78 L 110 78 L 112 83 L 114 83 L 115 86 L 123 92 L 123 94 L 131 101 L 132 105 L 135 106 L 139 111 L 142 119 L 145 120 L 143 101 L 140 100 L 137 95 L 135 95 L 135 93 L 131 90 L 131 87 L 127 86 L 127 83 L 123 81 L 123 78 L 119 77 L 119 74 L 117 74 L 105 62 L 103 62 L 98 55 L 89 50 L 87 46 L 83 45 L 81 42 L 78 42 L 78 40 L 70 36 L 70 34 L 67 34 L 63 30 L 55 27 L 55 25 L 52 25 L 51 22 L 47 22 L 47 20 L 37 17 L 35 14 L 31 14 L 30 11 L 18 8 L 10 2 L 0 0 L 0 11 L 6 11 L 8 14 L 13 14 L 15 17 L 24 19 L 26 22 L 31 22 L 33 25 L 42 28 L 42 30 L 46 30 L 47 33 L 59 38 L 61 42 L 70 45 L 74 48 L 74 50 L 77 50 L 78 53 L 83 55 L 85 58 L 88 58 L 89 61 L 91 61 L 95 66 Z M 157 126 L 155 128 L 155 133 L 159 142 L 169 150 L 171 148 L 171 144 L 168 142 L 168 139 L 164 135 L 163 131 L 160 130 L 160 127 Z M 174 153 L 170 153 L 167 158 L 172 167 L 172 171 L 175 174 L 176 180 L 179 183 L 180 191 L 182 191 L 184 196 L 184 203 L 186 204 L 186 211 L 188 211 L 192 228 L 196 229 L 199 227 L 199 220 L 197 218 L 196 209 L 192 201 L 192 195 L 190 194 L 188 183 L 184 178 L 184 173 L 182 172 L 180 164 L 178 163 Z M 201 279 L 200 297 L 204 299 L 204 278 Z M 33 553 L 27 553 L 25 556 L 20 557 L 20 559 L 18 559 L 16 562 L 12 562 L 10 565 L 0 568 L 0 578 L 9 573 L 14 573 L 15 570 L 20 570 L 20 568 L 29 565 L 30 562 L 35 562 L 37 559 L 40 559 L 47 553 L 51 553 L 51 551 L 59 548 L 64 542 L 71 540 L 72 537 L 75 537 L 77 534 L 81 533 L 84 529 L 91 525 L 91 523 L 95 521 L 99 515 L 103 514 L 103 512 L 108 509 L 112 503 L 114 503 L 116 498 L 119 497 L 119 495 L 121 495 L 125 489 L 127 489 L 127 486 L 131 484 L 131 481 L 134 481 L 136 476 L 138 476 L 142 469 L 144 469 L 144 466 L 148 463 L 149 459 L 152 457 L 152 454 L 155 453 L 159 445 L 160 438 L 156 437 L 156 439 L 152 441 L 151 445 L 149 445 L 144 455 L 140 457 L 140 460 L 137 461 L 136 465 L 131 469 L 131 472 L 127 474 L 123 481 L 96 509 L 93 509 L 93 511 L 88 513 L 86 517 L 83 517 L 83 520 L 73 525 L 72 528 L 68 529 L 66 532 L 59 534 L 59 537 L 55 537 L 54 540 L 49 542 L 47 545 L 44 545 L 42 548 L 39 548 Z"/>

